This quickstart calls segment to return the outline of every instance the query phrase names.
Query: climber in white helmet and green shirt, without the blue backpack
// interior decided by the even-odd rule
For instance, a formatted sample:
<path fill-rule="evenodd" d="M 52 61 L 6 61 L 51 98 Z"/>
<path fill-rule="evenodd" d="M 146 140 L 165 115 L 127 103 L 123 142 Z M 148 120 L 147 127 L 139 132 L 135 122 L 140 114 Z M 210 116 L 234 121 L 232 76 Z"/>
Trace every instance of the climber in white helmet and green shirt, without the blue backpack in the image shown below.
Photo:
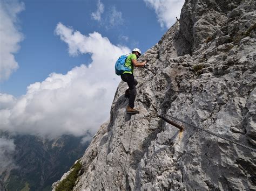
<path fill-rule="evenodd" d="M 133 67 L 145 67 L 146 61 L 144 62 L 138 62 L 137 59 L 139 56 L 142 55 L 142 52 L 140 52 L 140 49 L 134 48 L 132 50 L 132 54 L 127 56 L 127 59 L 125 61 L 125 66 L 131 68 L 131 71 L 125 71 L 123 74 L 121 74 L 121 79 L 126 82 L 129 86 L 129 88 L 125 91 L 125 97 L 129 98 L 129 104 L 127 105 L 126 112 L 127 114 L 138 114 L 139 111 L 134 109 L 134 101 L 136 97 L 136 85 L 137 80 L 134 79 L 133 76 Z"/>

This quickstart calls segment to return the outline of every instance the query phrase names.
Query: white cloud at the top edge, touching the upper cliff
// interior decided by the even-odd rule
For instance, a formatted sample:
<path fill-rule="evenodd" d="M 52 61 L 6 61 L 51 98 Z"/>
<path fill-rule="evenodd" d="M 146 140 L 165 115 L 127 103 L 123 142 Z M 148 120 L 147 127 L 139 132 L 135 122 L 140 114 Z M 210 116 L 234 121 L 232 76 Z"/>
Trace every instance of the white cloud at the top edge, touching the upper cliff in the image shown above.
<path fill-rule="evenodd" d="M 157 14 L 158 22 L 162 28 L 170 28 L 179 18 L 185 0 L 144 0 Z"/>

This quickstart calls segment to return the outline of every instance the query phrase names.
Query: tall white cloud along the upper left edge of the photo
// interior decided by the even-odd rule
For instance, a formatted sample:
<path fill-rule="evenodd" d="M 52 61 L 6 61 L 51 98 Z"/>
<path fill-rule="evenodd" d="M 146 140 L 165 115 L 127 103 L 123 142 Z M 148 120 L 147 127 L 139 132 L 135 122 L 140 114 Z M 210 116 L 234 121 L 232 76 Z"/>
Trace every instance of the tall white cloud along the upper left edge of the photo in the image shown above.
<path fill-rule="evenodd" d="M 19 32 L 17 15 L 24 8 L 24 3 L 18 1 L 0 1 L 0 81 L 7 80 L 18 68 L 14 54 L 23 34 Z"/>

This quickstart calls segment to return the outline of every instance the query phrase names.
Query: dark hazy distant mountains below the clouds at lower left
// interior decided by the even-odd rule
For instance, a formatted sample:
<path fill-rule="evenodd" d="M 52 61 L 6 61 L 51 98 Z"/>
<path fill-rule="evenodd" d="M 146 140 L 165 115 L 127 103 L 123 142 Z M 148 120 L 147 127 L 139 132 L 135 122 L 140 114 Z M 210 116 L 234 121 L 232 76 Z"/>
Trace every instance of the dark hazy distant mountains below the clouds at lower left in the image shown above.
<path fill-rule="evenodd" d="M 53 140 L 31 135 L 8 138 L 16 145 L 13 154 L 16 167 L 6 169 L 0 176 L 7 190 L 51 190 L 52 182 L 69 170 L 88 146 L 88 143 L 81 144 L 83 137 L 70 135 Z"/>

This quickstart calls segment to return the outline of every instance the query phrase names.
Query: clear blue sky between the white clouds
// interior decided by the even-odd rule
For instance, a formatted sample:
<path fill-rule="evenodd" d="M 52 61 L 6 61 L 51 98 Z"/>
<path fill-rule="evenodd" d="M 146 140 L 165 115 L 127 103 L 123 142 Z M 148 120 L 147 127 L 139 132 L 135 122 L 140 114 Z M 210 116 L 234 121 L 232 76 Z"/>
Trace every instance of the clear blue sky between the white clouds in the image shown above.
<path fill-rule="evenodd" d="M 24 10 L 18 14 L 18 26 L 24 40 L 14 54 L 19 68 L 1 83 L 2 93 L 15 96 L 25 94 L 29 84 L 43 81 L 52 72 L 66 73 L 89 62 L 90 55 L 67 54 L 66 45 L 54 34 L 58 22 L 72 26 L 83 34 L 97 31 L 109 38 L 112 44 L 124 44 L 131 49 L 139 47 L 142 52 L 155 45 L 167 30 L 167 27 L 159 25 L 154 9 L 143 1 L 102 1 L 103 17 L 111 17 L 111 9 L 114 8 L 122 13 L 122 19 L 116 20 L 113 26 L 92 19 L 97 1 L 22 2 Z M 125 38 L 129 40 L 125 41 Z"/>

